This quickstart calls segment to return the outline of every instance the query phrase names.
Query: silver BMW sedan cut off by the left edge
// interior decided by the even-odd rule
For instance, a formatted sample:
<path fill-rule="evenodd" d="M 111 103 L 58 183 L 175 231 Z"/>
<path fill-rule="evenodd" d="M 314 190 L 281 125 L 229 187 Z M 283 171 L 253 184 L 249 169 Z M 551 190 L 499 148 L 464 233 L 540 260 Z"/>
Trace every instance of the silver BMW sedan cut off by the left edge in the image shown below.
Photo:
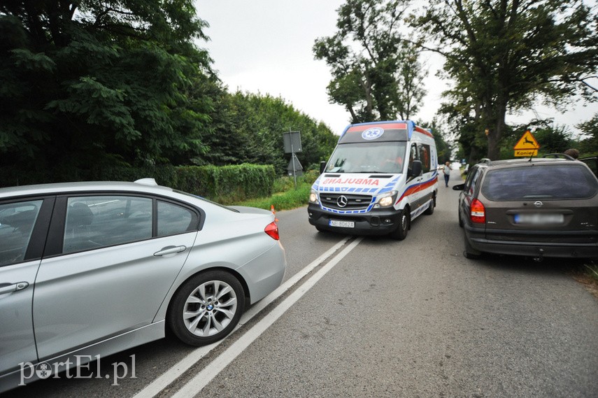
<path fill-rule="evenodd" d="M 152 179 L 0 189 L 0 392 L 166 329 L 213 343 L 285 267 L 270 211 Z"/>

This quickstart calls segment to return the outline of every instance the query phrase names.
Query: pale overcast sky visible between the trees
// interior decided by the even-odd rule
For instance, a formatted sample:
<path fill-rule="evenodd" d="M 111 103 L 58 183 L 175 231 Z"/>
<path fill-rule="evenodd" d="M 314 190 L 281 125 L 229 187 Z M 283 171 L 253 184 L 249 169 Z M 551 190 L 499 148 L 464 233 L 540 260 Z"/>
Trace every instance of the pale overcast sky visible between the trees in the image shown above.
<path fill-rule="evenodd" d="M 195 0 L 197 13 L 210 27 L 211 41 L 198 43 L 214 59 L 214 69 L 230 92 L 270 94 L 281 97 L 298 111 L 325 122 L 341 134 L 350 122 L 342 106 L 329 104 L 326 86 L 331 80 L 324 61 L 315 60 L 312 47 L 316 38 L 336 31 L 336 10 L 343 0 Z M 432 121 L 439 108 L 446 84 L 435 77 L 441 59 L 425 54 L 429 66 L 425 80 L 428 94 L 425 106 L 413 115 L 415 120 Z M 598 79 L 592 82 L 598 85 Z M 598 104 L 580 105 L 567 113 L 536 106 L 540 118 L 555 118 L 557 125 L 569 127 L 590 120 Z M 511 115 L 508 123 L 523 123 L 534 113 Z M 292 127 L 290 127 L 292 128 Z"/>

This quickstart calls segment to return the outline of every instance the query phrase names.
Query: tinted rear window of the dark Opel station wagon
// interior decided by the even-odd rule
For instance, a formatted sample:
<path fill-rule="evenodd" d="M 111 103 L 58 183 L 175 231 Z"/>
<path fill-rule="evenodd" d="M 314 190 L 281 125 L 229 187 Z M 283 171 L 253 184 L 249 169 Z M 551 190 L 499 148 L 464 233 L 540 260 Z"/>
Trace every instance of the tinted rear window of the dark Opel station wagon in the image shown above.
<path fill-rule="evenodd" d="M 585 199 L 598 181 L 582 164 L 530 164 L 487 172 L 482 193 L 491 200 Z"/>

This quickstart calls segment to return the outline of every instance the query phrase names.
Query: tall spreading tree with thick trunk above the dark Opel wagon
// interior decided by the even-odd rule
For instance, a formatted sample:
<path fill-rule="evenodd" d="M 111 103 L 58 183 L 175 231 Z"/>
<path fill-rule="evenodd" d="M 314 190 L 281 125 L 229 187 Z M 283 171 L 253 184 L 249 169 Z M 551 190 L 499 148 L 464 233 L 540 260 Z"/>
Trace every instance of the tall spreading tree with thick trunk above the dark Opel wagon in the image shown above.
<path fill-rule="evenodd" d="M 427 31 L 455 82 L 446 94 L 487 129 L 487 157 L 498 159 L 509 111 L 536 99 L 564 106 L 598 66 L 598 17 L 583 0 L 431 0 L 412 24 Z"/>

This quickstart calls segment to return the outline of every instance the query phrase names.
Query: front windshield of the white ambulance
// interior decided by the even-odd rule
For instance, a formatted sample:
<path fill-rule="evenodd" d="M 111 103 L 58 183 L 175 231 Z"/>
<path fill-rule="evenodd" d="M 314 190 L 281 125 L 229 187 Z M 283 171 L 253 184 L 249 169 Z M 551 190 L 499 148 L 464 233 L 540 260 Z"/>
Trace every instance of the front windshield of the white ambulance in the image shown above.
<path fill-rule="evenodd" d="M 329 173 L 402 173 L 406 142 L 340 144 L 330 157 Z"/>

